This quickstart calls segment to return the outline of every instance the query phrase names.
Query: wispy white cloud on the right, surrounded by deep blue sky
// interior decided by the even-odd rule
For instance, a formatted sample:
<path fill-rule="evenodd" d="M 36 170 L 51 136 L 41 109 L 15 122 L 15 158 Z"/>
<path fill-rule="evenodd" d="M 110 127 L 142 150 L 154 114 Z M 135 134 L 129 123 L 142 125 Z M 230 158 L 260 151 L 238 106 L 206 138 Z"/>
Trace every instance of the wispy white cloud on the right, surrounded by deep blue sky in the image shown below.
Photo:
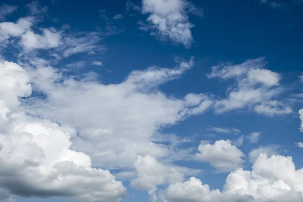
<path fill-rule="evenodd" d="M 216 102 L 215 111 L 222 113 L 252 108 L 255 112 L 268 116 L 292 113 L 289 106 L 273 99 L 283 91 L 279 86 L 281 76 L 264 69 L 265 65 L 265 58 L 258 58 L 240 65 L 222 64 L 212 67 L 212 72 L 207 75 L 209 78 L 236 79 L 236 87 L 229 90 L 228 98 Z"/>

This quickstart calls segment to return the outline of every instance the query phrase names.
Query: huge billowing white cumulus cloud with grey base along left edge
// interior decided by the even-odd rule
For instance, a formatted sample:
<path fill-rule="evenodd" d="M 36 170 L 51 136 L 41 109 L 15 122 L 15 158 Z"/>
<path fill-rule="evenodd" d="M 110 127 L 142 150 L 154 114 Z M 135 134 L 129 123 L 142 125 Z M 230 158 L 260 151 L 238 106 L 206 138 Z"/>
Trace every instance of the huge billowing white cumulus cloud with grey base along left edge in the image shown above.
<path fill-rule="evenodd" d="M 28 116 L 19 97 L 31 94 L 30 77 L 15 63 L 0 63 L 0 199 L 66 197 L 118 201 L 126 189 L 90 157 L 70 149 L 75 130 Z"/>

